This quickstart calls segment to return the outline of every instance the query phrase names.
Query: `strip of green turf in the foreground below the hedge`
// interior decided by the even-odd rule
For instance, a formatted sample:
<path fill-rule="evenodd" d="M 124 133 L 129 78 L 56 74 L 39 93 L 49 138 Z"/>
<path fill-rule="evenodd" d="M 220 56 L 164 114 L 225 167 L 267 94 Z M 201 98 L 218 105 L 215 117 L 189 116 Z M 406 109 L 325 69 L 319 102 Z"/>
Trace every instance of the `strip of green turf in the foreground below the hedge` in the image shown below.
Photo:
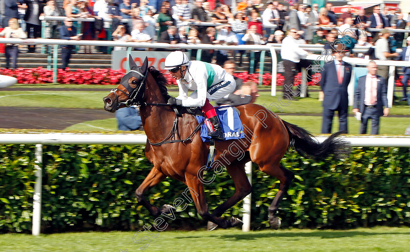
<path fill-rule="evenodd" d="M 141 240 L 133 242 L 132 232 L 78 232 L 41 234 L 0 235 L 1 251 L 140 251 L 148 244 Z M 216 231 L 153 231 L 152 237 L 137 233 L 135 240 L 146 236 L 149 245 L 145 251 L 394 251 L 409 249 L 410 228 L 377 227 L 344 231 L 319 230 L 264 230 L 242 232 L 238 229 Z"/>

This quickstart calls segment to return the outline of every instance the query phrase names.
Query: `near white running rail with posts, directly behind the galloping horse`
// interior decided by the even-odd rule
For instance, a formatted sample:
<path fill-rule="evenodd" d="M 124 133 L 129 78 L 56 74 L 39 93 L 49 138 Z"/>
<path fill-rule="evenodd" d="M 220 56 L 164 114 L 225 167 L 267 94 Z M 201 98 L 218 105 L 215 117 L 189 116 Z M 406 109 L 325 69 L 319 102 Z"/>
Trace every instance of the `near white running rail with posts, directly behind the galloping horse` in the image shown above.
<path fill-rule="evenodd" d="M 103 136 L 103 137 L 102 137 Z M 317 136 L 323 142 L 326 136 Z M 410 147 L 410 136 L 346 136 L 352 147 Z M 33 195 L 32 234 L 39 235 L 41 229 L 41 187 L 43 145 L 145 145 L 144 134 L 85 134 L 85 133 L 0 133 L 0 144 L 36 145 L 36 185 Z M 251 162 L 246 164 L 249 182 L 252 181 Z M 244 199 L 243 231 L 250 230 L 251 195 Z"/>

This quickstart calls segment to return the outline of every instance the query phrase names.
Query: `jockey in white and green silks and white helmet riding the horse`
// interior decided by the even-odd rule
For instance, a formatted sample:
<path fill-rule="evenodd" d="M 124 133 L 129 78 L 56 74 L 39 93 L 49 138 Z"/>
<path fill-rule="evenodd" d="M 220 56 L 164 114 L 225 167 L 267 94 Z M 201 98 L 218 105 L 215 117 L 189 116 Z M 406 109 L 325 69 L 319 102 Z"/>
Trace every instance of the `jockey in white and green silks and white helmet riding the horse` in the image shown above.
<path fill-rule="evenodd" d="M 200 106 L 213 126 L 208 135 L 216 140 L 224 140 L 221 123 L 215 108 L 209 101 L 226 98 L 235 90 L 233 76 L 219 65 L 202 61 L 189 61 L 181 51 L 171 52 L 165 59 L 165 70 L 177 80 L 179 96 L 169 98 L 168 104 L 184 107 Z M 188 89 L 194 90 L 188 97 Z"/>

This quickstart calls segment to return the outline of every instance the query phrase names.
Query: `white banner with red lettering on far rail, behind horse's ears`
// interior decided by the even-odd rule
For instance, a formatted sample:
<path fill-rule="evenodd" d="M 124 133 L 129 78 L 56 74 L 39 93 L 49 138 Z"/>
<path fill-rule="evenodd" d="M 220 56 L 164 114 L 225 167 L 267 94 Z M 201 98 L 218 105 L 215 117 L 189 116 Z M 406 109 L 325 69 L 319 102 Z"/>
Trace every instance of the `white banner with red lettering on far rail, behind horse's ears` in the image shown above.
<path fill-rule="evenodd" d="M 153 51 L 131 51 L 131 56 L 138 66 L 143 64 L 145 57 L 148 57 L 148 65 L 152 65 L 160 71 L 164 71 L 164 62 L 166 56 L 171 52 L 153 52 Z M 188 59 L 190 58 L 190 53 L 185 52 Z M 111 69 L 117 70 L 121 69 L 125 73 L 126 62 L 128 58 L 127 51 L 112 51 L 111 52 Z"/>

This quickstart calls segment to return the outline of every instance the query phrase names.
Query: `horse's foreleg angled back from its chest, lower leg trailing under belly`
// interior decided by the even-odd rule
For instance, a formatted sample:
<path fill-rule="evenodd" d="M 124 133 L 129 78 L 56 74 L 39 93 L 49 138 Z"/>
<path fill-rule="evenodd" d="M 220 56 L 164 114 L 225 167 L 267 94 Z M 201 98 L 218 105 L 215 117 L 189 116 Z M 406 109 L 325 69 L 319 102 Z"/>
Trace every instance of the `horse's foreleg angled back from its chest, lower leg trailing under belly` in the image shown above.
<path fill-rule="evenodd" d="M 192 199 L 195 203 L 195 207 L 198 210 L 199 215 L 201 215 L 201 217 L 204 220 L 211 221 L 224 229 L 231 228 L 232 223 L 230 221 L 221 219 L 208 212 L 208 205 L 206 204 L 204 185 L 199 180 L 197 175 L 186 174 L 185 179 L 186 185 L 188 186 L 189 191 L 191 192 Z"/>

